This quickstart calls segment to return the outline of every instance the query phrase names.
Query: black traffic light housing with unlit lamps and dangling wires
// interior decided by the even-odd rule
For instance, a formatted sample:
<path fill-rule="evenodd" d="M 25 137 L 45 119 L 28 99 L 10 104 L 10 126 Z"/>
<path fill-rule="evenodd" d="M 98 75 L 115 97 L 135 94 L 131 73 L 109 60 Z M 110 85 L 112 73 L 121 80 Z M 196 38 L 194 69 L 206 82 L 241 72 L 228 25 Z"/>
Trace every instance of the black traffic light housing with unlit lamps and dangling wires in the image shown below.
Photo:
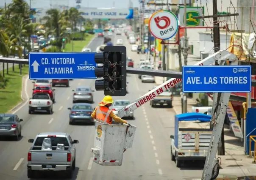
<path fill-rule="evenodd" d="M 95 81 L 95 89 L 104 90 L 105 95 L 126 95 L 126 47 L 106 46 L 104 52 L 95 54 L 95 76 L 103 79 Z"/>

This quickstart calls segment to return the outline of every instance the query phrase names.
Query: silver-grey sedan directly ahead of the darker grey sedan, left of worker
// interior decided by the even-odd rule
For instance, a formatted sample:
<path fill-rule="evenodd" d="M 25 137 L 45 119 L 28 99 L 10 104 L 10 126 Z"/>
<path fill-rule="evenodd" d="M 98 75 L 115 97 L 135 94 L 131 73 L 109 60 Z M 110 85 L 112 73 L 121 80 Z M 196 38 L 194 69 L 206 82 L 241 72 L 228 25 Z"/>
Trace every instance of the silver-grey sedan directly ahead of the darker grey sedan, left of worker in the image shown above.
<path fill-rule="evenodd" d="M 77 102 L 88 102 L 88 103 L 93 103 L 93 95 L 92 90 L 88 86 L 79 86 L 76 88 L 76 90 L 72 90 L 73 93 L 73 103 Z"/>

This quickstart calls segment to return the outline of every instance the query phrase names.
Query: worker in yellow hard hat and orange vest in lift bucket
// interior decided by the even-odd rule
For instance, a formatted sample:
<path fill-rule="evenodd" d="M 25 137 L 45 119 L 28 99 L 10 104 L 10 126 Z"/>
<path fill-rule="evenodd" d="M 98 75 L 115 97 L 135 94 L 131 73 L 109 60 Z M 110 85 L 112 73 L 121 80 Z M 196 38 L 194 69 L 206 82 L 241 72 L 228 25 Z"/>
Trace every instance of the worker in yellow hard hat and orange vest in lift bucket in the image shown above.
<path fill-rule="evenodd" d="M 112 97 L 110 95 L 106 95 L 100 104 L 95 108 L 94 112 L 92 112 L 92 118 L 105 124 L 112 124 L 112 119 L 114 119 L 117 123 L 125 123 L 130 125 L 126 120 L 121 119 L 115 115 L 111 109 L 109 109 L 113 102 Z"/>

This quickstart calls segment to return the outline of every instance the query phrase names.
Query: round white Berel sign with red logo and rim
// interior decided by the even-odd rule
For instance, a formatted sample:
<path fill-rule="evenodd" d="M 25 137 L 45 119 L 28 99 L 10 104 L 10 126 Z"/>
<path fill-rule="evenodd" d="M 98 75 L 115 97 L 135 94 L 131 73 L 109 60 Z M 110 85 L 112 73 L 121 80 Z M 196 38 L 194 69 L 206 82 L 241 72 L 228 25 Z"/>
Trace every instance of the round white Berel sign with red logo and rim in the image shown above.
<path fill-rule="evenodd" d="M 157 11 L 149 19 L 149 30 L 155 38 L 170 39 L 178 31 L 178 19 L 170 11 Z"/>

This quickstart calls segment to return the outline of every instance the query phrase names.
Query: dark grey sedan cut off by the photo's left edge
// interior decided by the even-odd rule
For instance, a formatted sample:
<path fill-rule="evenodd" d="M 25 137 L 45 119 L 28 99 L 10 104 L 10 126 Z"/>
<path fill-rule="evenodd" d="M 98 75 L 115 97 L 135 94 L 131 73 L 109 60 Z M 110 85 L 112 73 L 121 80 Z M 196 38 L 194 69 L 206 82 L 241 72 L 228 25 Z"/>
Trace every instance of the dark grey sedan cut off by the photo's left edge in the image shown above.
<path fill-rule="evenodd" d="M 0 136 L 12 136 L 15 140 L 19 140 L 22 121 L 15 114 L 0 114 Z"/>

